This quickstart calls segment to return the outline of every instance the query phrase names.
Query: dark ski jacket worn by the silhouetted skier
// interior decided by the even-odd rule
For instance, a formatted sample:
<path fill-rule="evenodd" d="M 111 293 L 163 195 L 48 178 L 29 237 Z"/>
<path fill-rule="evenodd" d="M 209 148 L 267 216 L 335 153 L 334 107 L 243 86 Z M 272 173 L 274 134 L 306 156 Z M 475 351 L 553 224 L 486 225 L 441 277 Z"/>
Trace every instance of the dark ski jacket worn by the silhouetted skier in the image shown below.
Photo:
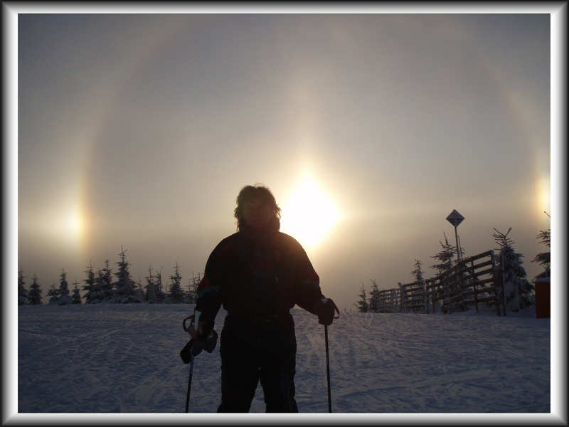
<path fill-rule="evenodd" d="M 242 227 L 213 249 L 197 290 L 201 321 L 213 322 L 222 304 L 229 315 L 285 314 L 295 304 L 316 314 L 319 277 L 302 246 L 278 228 L 278 221 L 260 233 Z"/>

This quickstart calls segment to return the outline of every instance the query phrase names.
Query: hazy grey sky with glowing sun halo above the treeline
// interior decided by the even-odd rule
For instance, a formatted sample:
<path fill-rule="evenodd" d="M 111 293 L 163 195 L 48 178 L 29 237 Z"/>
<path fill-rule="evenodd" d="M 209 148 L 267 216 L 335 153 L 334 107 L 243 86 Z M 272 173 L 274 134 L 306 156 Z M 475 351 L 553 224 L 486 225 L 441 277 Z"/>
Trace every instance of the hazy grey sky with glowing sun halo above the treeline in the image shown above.
<path fill-rule="evenodd" d="M 466 255 L 512 227 L 533 278 L 550 227 L 550 16 L 18 16 L 18 263 L 44 302 L 61 268 L 70 283 L 89 262 L 116 271 L 121 246 L 135 280 L 177 262 L 187 285 L 255 183 L 283 225 L 317 188 L 305 218 L 335 218 L 328 231 L 283 231 L 341 307 L 371 279 L 413 281 L 416 258 L 430 277 L 452 209 Z"/>

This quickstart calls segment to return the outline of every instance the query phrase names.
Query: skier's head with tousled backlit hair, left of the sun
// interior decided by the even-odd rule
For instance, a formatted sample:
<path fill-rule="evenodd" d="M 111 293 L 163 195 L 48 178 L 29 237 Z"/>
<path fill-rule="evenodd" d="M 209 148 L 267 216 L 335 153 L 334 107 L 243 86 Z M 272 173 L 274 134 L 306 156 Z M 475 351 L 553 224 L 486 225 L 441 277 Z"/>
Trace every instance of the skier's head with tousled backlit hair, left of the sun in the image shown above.
<path fill-rule="evenodd" d="M 237 229 L 243 226 L 264 228 L 273 222 L 280 226 L 280 207 L 270 189 L 261 184 L 244 186 L 237 196 L 235 208 Z"/>

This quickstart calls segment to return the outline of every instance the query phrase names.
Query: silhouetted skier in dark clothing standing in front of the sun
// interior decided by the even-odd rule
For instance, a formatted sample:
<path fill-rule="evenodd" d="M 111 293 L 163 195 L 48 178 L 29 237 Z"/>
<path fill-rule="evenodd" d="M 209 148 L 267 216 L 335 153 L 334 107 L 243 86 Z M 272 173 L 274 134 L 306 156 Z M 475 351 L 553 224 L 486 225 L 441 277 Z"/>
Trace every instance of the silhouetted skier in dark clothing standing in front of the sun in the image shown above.
<path fill-rule="evenodd" d="M 218 412 L 248 412 L 260 379 L 267 412 L 298 412 L 294 400 L 297 341 L 289 310 L 299 305 L 330 325 L 337 310 L 322 295 L 302 246 L 280 233 L 280 208 L 265 186 L 245 186 L 235 208 L 238 232 L 208 258 L 198 285 L 194 339 L 213 330 L 223 304 Z"/>

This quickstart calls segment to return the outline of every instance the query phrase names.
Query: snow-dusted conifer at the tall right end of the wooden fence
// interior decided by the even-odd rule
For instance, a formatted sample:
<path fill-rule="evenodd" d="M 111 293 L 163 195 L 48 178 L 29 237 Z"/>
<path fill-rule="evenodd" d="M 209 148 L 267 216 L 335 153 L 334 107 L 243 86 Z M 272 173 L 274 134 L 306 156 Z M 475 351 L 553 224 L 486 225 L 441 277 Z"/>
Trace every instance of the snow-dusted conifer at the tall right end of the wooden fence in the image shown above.
<path fill-rule="evenodd" d="M 503 273 L 504 292 L 506 294 L 506 307 L 513 312 L 533 304 L 533 285 L 527 280 L 526 269 L 521 265 L 523 255 L 514 250 L 514 241 L 508 237 L 511 227 L 504 234 L 496 230 L 492 234 L 499 244 L 498 264 Z"/>

